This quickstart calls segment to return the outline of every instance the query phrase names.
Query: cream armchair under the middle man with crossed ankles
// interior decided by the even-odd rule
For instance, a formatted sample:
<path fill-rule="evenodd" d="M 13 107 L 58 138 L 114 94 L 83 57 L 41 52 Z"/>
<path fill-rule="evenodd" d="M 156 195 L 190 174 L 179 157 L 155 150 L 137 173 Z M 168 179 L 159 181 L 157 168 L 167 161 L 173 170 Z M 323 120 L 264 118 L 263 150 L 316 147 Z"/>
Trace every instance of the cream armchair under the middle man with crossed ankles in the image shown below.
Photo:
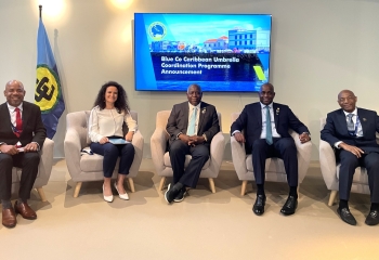
<path fill-rule="evenodd" d="M 156 129 L 151 139 L 152 158 L 158 176 L 161 177 L 159 191 L 164 190 L 166 177 L 172 177 L 172 168 L 170 156 L 167 152 L 169 134 L 166 131 L 166 125 L 171 110 L 161 110 L 157 113 Z M 220 130 L 221 130 L 221 114 L 218 113 Z M 204 165 L 200 178 L 208 178 L 209 186 L 212 193 L 215 193 L 213 179 L 219 176 L 222 158 L 224 155 L 225 139 L 220 131 L 217 133 L 210 143 L 210 158 Z M 191 160 L 191 155 L 185 158 L 184 167 L 187 167 Z"/>

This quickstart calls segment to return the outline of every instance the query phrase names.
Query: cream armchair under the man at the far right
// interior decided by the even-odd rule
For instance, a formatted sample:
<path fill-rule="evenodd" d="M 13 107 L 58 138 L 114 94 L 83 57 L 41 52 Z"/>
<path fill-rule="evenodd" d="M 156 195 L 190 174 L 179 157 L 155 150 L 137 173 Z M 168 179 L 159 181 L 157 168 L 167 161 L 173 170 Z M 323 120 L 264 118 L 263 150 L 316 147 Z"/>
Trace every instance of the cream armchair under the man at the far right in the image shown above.
<path fill-rule="evenodd" d="M 324 129 L 326 118 L 319 119 L 321 129 Z M 377 134 L 377 142 L 379 143 L 379 136 Z M 319 165 L 323 173 L 325 184 L 330 190 L 330 196 L 328 205 L 331 206 L 335 200 L 339 188 L 339 174 L 340 164 L 336 161 L 336 155 L 334 148 L 329 143 L 319 140 Z M 368 174 L 366 168 L 357 167 L 353 177 L 353 184 L 351 187 L 353 193 L 369 194 L 368 187 Z"/>

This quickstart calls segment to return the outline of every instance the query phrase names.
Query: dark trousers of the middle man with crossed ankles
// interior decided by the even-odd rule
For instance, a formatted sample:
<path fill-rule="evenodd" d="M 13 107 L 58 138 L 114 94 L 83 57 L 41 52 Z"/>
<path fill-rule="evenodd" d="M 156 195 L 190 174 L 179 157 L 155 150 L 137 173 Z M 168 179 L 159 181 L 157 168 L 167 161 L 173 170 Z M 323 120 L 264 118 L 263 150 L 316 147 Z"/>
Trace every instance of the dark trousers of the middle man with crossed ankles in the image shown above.
<path fill-rule="evenodd" d="M 173 184 L 182 183 L 188 187 L 196 187 L 202 166 L 209 159 L 209 147 L 205 144 L 188 146 L 181 140 L 170 145 L 170 161 L 173 171 Z M 184 170 L 185 155 L 191 155 L 190 165 Z"/>

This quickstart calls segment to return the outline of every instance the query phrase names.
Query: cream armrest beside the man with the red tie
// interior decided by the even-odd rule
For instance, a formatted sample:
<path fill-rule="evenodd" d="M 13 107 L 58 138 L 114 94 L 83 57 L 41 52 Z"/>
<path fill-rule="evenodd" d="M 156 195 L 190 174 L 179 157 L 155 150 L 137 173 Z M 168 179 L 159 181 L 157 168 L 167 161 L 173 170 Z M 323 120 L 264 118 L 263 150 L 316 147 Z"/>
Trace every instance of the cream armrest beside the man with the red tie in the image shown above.
<path fill-rule="evenodd" d="M 42 150 L 40 152 L 41 159 L 38 166 L 38 186 L 41 187 L 48 184 L 51 169 L 53 167 L 53 151 L 54 150 L 54 141 L 51 139 L 44 139 Z"/>

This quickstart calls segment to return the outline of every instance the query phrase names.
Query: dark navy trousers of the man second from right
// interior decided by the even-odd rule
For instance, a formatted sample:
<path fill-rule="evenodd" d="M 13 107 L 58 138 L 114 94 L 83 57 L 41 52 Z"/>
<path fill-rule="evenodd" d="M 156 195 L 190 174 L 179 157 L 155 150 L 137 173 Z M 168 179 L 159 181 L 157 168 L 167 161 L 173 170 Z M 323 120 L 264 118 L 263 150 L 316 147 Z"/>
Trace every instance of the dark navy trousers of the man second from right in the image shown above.
<path fill-rule="evenodd" d="M 252 168 L 257 184 L 264 184 L 266 158 L 278 157 L 284 160 L 289 186 L 297 186 L 299 181 L 298 156 L 292 138 L 274 138 L 269 145 L 265 139 L 258 139 L 252 144 Z"/>

